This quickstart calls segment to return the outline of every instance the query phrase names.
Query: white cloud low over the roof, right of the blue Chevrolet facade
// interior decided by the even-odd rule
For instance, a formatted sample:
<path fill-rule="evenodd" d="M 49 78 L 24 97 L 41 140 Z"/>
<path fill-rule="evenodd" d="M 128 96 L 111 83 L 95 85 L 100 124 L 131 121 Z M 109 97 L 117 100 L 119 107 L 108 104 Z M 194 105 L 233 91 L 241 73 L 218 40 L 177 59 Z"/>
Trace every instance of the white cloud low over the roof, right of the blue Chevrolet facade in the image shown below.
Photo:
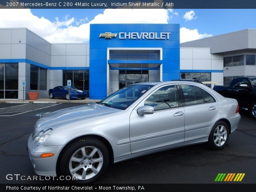
<path fill-rule="evenodd" d="M 206 37 L 211 37 L 212 34 L 200 34 L 197 29 L 190 30 L 185 27 L 180 28 L 180 43 L 184 43 L 187 41 L 202 39 Z"/>

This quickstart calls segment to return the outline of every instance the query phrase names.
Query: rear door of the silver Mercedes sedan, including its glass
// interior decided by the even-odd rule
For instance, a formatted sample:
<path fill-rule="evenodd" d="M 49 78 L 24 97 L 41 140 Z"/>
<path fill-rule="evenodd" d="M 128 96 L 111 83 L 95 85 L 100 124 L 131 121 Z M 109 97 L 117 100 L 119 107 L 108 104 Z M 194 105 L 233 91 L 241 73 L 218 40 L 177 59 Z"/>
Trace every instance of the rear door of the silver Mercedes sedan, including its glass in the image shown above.
<path fill-rule="evenodd" d="M 209 129 L 218 113 L 218 103 L 206 90 L 180 84 L 185 110 L 185 142 L 208 137 Z"/>

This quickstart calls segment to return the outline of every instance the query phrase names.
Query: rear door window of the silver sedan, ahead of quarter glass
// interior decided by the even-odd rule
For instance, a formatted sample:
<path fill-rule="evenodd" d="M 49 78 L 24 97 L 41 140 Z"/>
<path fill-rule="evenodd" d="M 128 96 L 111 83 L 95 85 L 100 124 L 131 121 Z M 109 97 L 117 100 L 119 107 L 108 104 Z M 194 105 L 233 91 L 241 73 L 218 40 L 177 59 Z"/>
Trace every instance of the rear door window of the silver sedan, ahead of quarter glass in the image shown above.
<path fill-rule="evenodd" d="M 185 98 L 185 105 L 204 103 L 204 96 L 201 88 L 192 85 L 181 85 L 181 87 Z"/>

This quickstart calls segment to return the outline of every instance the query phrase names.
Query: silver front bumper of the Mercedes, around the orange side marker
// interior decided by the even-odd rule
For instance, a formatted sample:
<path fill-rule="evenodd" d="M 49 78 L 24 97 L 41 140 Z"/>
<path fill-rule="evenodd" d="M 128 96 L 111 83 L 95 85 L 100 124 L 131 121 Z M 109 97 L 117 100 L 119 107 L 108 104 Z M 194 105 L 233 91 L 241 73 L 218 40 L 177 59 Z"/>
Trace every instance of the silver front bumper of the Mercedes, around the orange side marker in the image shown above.
<path fill-rule="evenodd" d="M 42 176 L 56 176 L 56 164 L 63 146 L 36 146 L 32 139 L 32 134 L 28 138 L 27 146 L 35 173 Z M 54 155 L 47 158 L 41 158 L 43 153 L 50 152 L 53 152 Z"/>

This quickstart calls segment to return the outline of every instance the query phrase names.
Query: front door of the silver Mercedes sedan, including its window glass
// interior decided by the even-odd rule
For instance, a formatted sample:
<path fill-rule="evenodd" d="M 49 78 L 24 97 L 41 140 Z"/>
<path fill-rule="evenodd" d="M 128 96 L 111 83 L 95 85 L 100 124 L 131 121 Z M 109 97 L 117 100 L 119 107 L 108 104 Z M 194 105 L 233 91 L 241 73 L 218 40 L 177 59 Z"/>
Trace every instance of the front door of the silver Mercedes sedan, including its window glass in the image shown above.
<path fill-rule="evenodd" d="M 147 96 L 130 115 L 132 154 L 184 142 L 184 108 L 178 85 L 158 88 Z M 139 106 L 149 105 L 153 114 L 138 115 Z"/>

